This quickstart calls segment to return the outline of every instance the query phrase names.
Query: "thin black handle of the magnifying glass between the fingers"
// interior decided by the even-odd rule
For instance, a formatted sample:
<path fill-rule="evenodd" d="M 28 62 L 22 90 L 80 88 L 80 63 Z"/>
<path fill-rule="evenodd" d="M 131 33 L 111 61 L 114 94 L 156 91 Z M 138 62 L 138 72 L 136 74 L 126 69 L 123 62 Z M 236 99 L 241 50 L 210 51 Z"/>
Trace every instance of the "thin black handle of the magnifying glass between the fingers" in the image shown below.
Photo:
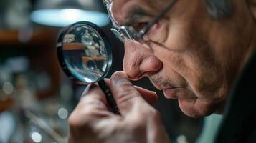
<path fill-rule="evenodd" d="M 104 79 L 100 80 L 98 82 L 100 88 L 103 90 L 105 93 L 105 97 L 107 99 L 108 104 L 110 105 L 110 108 L 112 109 L 113 113 L 115 114 L 120 114 L 120 111 L 118 109 L 118 105 L 115 103 L 115 99 L 113 97 L 113 94 L 107 84 L 105 83 Z"/>

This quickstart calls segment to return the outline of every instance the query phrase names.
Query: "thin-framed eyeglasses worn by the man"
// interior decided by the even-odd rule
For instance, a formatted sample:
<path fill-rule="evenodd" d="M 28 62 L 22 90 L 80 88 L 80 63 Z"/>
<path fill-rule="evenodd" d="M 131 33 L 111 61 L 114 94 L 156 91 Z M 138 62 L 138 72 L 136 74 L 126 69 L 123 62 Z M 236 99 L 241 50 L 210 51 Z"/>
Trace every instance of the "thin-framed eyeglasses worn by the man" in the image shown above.
<path fill-rule="evenodd" d="M 107 1 L 108 14 L 110 15 L 110 19 L 115 26 L 115 27 L 111 28 L 111 31 L 123 43 L 125 41 L 125 38 L 130 39 L 131 41 L 142 42 L 143 36 L 151 29 L 151 27 L 154 24 L 156 24 L 164 16 L 164 14 L 166 14 L 167 11 L 169 11 L 169 9 L 171 9 L 172 6 L 174 6 L 176 1 L 177 0 L 172 0 L 171 3 L 168 6 L 166 6 L 166 8 L 163 9 L 163 11 L 161 11 L 161 13 L 158 16 L 156 16 L 155 19 L 153 19 L 153 21 L 151 21 L 150 23 L 143 26 L 143 28 L 139 31 L 137 31 L 135 28 L 133 28 L 133 26 L 118 26 L 118 24 L 115 23 L 115 20 L 113 19 L 113 17 L 110 15 L 110 9 L 108 6 L 108 4 L 110 4 L 110 2 Z"/>

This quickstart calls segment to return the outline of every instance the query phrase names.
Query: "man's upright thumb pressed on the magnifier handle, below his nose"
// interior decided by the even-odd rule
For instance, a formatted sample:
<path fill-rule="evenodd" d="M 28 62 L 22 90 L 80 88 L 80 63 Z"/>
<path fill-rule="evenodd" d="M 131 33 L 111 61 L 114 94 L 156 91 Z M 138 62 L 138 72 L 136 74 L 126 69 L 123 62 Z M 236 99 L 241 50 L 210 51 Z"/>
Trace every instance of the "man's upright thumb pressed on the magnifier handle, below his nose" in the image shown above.
<path fill-rule="evenodd" d="M 134 104 L 150 106 L 142 97 L 140 92 L 133 87 L 123 71 L 115 72 L 110 78 L 110 89 L 113 93 L 121 114 L 132 111 Z"/>

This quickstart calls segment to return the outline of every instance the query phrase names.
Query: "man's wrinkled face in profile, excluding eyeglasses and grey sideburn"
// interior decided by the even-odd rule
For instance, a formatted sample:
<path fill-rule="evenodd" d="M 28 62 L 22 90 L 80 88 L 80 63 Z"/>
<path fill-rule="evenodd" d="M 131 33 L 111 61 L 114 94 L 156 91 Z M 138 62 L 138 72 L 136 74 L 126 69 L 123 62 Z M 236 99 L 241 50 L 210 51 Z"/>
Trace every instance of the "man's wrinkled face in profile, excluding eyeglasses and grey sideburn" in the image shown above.
<path fill-rule="evenodd" d="M 113 0 L 110 10 L 119 25 L 143 26 L 170 2 Z M 214 19 L 204 0 L 178 0 L 144 36 L 149 46 L 125 39 L 123 69 L 133 80 L 148 77 L 185 114 L 212 114 L 224 107 L 245 62 L 252 26 L 245 1 L 234 1 L 233 16 Z"/>

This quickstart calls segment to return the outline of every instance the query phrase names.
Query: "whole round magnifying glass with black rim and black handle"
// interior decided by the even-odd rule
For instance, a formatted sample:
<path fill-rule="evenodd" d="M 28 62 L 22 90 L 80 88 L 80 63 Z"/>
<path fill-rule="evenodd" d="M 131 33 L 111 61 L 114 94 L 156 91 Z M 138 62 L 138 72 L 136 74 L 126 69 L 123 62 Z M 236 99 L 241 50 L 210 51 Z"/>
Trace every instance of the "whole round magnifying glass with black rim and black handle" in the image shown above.
<path fill-rule="evenodd" d="M 60 31 L 57 56 L 62 70 L 78 84 L 98 82 L 110 110 L 120 114 L 104 78 L 112 64 L 110 41 L 97 25 L 80 21 Z"/>

